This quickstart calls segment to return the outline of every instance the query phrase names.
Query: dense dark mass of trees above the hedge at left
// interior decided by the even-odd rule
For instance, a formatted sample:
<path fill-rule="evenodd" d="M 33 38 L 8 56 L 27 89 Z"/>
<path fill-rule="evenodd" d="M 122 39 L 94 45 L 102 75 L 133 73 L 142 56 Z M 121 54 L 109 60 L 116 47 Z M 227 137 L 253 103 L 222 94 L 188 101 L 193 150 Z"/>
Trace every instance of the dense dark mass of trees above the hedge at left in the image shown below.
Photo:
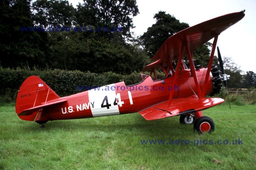
<path fill-rule="evenodd" d="M 127 43 L 139 13 L 135 0 L 4 0 L 0 3 L 0 65 L 130 74 L 148 63 Z M 109 30 L 107 31 L 108 27 Z M 82 29 L 84 28 L 84 29 Z"/>

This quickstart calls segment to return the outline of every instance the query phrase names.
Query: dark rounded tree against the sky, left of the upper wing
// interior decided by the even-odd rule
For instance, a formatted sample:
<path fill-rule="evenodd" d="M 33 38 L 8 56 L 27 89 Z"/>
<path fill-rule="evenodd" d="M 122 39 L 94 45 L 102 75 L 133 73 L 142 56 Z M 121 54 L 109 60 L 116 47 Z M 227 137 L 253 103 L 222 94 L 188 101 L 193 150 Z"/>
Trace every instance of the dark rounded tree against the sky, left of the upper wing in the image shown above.
<path fill-rule="evenodd" d="M 165 11 L 159 11 L 154 15 L 154 19 L 156 23 L 148 27 L 148 31 L 140 37 L 145 51 L 151 58 L 169 37 L 189 27 L 187 23 L 180 23 Z"/>

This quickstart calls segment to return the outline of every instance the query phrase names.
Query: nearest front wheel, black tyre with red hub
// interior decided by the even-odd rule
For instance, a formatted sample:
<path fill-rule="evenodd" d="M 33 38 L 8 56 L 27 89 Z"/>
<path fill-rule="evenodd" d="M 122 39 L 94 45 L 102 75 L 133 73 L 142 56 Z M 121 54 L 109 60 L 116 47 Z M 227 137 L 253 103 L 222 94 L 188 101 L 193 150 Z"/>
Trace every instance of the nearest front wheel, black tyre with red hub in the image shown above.
<path fill-rule="evenodd" d="M 207 116 L 199 117 L 194 123 L 194 130 L 198 131 L 199 134 L 211 133 L 214 130 L 214 122 Z"/>

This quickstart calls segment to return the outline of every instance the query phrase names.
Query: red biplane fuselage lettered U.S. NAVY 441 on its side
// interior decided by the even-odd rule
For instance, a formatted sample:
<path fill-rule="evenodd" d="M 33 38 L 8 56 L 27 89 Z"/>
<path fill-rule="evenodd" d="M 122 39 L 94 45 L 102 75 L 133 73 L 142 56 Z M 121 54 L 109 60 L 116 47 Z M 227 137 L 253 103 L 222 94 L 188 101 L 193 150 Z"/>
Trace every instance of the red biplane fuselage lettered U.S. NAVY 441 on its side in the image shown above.
<path fill-rule="evenodd" d="M 206 68 L 201 68 L 197 71 L 198 80 L 201 83 L 203 83 L 205 70 Z M 34 116 L 37 113 L 32 113 L 34 116 L 29 119 L 37 122 L 46 122 L 140 112 L 152 105 L 168 101 L 171 91 L 174 91 L 174 99 L 195 95 L 193 93 L 193 91 L 196 91 L 194 79 L 188 70 L 180 71 L 178 81 L 174 86 L 171 85 L 174 78 L 174 75 L 171 74 L 164 79 L 155 81 L 150 76 L 143 75 L 143 77 L 143 81 L 136 85 L 126 86 L 124 82 L 118 82 L 53 100 L 49 99 L 49 94 L 47 99 L 48 88 L 43 83 L 34 92 L 20 93 L 19 97 L 23 99 L 26 94 L 28 99 L 33 99 L 31 100 L 31 105 L 35 103 L 35 96 L 39 96 L 38 93 L 41 93 L 40 99 L 38 99 L 38 102 L 40 101 L 39 105 L 67 100 L 58 105 L 43 108 L 44 114 L 39 114 L 36 119 Z M 30 77 L 30 79 L 35 82 L 35 79 L 39 78 Z M 212 91 L 211 77 L 209 77 L 207 87 L 207 94 L 209 94 Z M 28 101 L 26 100 L 26 104 Z M 26 107 L 26 105 L 24 106 Z M 27 117 L 20 115 L 20 118 L 26 120 Z"/>

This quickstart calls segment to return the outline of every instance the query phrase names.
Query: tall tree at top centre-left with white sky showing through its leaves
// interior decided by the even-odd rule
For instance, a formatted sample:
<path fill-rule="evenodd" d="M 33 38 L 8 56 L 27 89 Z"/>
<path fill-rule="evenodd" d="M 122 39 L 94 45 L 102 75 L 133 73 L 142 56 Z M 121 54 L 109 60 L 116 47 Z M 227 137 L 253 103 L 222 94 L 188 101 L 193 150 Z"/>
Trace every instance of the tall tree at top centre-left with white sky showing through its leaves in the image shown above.
<path fill-rule="evenodd" d="M 137 14 L 139 9 L 136 0 L 84 0 L 84 3 L 79 3 L 77 7 L 76 18 L 80 26 L 102 28 L 122 26 L 121 34 L 131 37 L 130 29 L 134 28 L 131 16 Z M 115 33 L 104 32 L 104 36 L 112 38 Z"/>

